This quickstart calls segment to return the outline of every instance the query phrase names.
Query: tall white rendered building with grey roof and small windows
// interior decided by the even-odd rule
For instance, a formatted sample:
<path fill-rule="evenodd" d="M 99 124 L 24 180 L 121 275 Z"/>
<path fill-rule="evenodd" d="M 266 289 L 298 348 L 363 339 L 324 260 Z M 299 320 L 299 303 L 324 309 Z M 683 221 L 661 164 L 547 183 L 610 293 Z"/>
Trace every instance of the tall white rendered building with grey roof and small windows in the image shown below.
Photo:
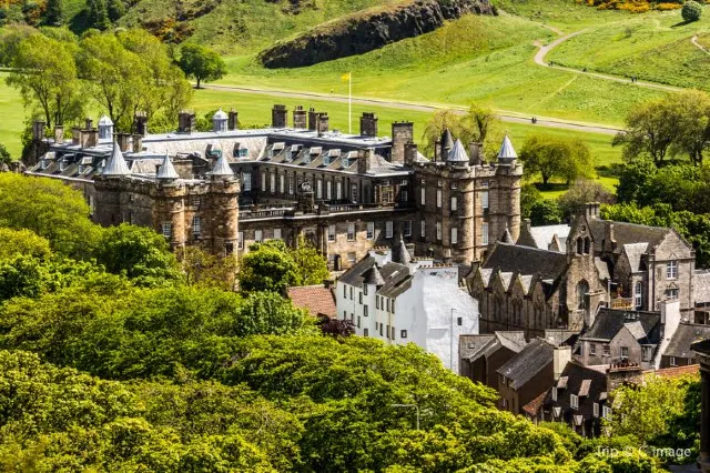
<path fill-rule="evenodd" d="M 393 261 L 394 256 L 394 261 Z M 358 336 L 416 343 L 458 373 L 458 340 L 478 333 L 478 302 L 459 288 L 459 268 L 412 261 L 403 242 L 375 249 L 337 281 L 337 316 Z"/>

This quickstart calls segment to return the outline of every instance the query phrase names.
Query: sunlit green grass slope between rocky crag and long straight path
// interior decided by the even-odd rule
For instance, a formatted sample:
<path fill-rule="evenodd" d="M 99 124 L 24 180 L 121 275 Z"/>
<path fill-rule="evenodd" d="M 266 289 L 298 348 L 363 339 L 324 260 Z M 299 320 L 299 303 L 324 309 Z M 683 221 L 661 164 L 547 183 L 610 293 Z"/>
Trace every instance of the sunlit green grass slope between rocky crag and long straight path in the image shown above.
<path fill-rule="evenodd" d="M 535 40 L 555 33 L 521 18 L 468 16 L 419 38 L 355 58 L 297 70 L 266 70 L 252 57 L 232 58 L 222 83 L 347 93 L 339 81 L 353 71 L 353 94 L 497 109 L 570 120 L 621 124 L 628 109 L 658 97 L 655 90 L 536 66 Z"/>

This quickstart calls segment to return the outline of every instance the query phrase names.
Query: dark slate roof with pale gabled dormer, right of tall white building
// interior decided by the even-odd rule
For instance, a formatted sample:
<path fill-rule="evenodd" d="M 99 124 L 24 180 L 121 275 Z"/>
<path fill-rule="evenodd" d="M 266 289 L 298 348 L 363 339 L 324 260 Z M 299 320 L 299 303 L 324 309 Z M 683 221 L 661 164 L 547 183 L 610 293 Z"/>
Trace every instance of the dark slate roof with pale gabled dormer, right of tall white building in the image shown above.
<path fill-rule="evenodd" d="M 595 322 L 591 324 L 582 339 L 611 340 L 625 325 L 639 322 L 629 330 L 636 335 L 645 334 L 648 343 L 657 344 L 660 339 L 661 315 L 658 312 L 645 311 L 622 311 L 601 308 L 597 312 Z M 639 338 L 637 336 L 637 340 Z"/>

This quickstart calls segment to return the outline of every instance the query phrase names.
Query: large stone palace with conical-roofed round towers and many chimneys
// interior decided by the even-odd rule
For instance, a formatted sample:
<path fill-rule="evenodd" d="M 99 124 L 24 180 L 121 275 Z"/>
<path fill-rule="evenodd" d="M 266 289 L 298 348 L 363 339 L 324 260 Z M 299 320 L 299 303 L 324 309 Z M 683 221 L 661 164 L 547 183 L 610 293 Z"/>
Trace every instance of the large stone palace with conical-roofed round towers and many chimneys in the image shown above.
<path fill-rule="evenodd" d="M 486 162 L 479 144 L 446 131 L 427 159 L 409 122 L 392 123 L 387 138 L 374 113 L 363 114 L 359 134 L 331 130 L 327 113 L 302 107 L 287 121 L 274 105 L 270 128 L 241 130 L 235 111 L 220 110 L 211 131 L 196 131 L 184 111 L 175 132 L 151 134 L 138 113 L 135 133 L 114 133 L 103 117 L 71 139 L 63 127 L 47 139 L 37 122 L 39 160 L 28 173 L 80 189 L 97 222 L 152 227 L 174 250 L 224 254 L 303 235 L 338 270 L 403 239 L 413 254 L 470 264 L 500 233 L 519 234 L 523 168 L 507 138 Z"/>

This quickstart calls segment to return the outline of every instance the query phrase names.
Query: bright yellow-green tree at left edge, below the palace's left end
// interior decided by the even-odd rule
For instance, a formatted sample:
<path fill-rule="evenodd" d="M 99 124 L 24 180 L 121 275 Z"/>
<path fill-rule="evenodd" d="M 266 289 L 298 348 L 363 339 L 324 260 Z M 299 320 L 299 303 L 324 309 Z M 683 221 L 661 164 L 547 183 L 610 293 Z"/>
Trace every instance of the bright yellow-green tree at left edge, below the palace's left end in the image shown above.
<path fill-rule="evenodd" d="M 80 192 L 53 179 L 0 173 L 0 225 L 45 238 L 58 254 L 88 258 L 99 227 Z"/>

